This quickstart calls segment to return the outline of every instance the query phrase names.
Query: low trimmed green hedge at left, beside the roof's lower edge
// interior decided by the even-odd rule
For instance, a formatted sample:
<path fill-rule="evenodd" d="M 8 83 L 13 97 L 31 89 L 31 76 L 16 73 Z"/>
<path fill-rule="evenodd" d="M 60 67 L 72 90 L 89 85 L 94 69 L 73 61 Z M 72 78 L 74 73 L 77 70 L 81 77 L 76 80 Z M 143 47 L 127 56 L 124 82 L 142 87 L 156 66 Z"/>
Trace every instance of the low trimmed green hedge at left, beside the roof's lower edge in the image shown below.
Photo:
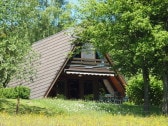
<path fill-rule="evenodd" d="M 30 89 L 25 86 L 0 88 L 0 97 L 1 98 L 18 98 L 18 97 L 20 97 L 22 99 L 29 99 Z"/>

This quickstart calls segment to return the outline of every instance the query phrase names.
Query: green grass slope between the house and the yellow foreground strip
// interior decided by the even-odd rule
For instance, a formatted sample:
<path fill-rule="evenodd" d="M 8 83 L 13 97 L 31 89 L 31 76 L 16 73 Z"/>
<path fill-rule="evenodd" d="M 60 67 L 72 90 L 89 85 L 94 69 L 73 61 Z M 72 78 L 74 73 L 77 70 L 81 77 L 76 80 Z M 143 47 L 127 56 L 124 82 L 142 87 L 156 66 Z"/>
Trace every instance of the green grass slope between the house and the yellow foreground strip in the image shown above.
<path fill-rule="evenodd" d="M 15 99 L 0 99 L 0 112 L 14 113 L 16 107 Z M 112 115 L 137 115 L 143 116 L 142 106 L 129 104 L 116 105 L 111 103 L 100 103 L 95 101 L 63 100 L 63 99 L 38 99 L 21 100 L 20 114 L 44 114 L 61 115 L 73 113 L 108 113 Z M 158 115 L 161 109 L 152 107 L 151 115 Z"/>

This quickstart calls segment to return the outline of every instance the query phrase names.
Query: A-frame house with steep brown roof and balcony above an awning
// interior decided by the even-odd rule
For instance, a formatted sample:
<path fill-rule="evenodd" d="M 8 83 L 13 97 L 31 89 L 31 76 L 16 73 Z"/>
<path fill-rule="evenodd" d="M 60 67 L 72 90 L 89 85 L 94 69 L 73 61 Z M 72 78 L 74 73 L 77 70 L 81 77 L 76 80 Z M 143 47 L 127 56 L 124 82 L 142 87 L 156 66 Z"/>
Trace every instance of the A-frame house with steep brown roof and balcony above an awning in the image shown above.
<path fill-rule="evenodd" d="M 67 99 L 93 95 L 97 100 L 107 93 L 124 97 L 125 81 L 111 69 L 113 64 L 109 56 L 100 58 L 89 44 L 85 44 L 80 53 L 69 56 L 75 50 L 72 40 L 70 34 L 62 31 L 33 44 L 33 49 L 40 54 L 36 77 L 32 82 L 23 83 L 31 89 L 30 98 L 61 94 Z M 9 85 L 18 84 L 13 81 Z"/>

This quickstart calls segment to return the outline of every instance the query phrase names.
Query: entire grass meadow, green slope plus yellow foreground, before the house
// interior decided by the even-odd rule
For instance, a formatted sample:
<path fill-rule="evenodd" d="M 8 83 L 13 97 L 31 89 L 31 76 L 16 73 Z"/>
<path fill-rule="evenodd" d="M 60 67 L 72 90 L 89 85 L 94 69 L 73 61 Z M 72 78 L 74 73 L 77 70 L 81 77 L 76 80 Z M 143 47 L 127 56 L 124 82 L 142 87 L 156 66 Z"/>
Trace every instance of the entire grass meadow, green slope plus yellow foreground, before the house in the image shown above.
<path fill-rule="evenodd" d="M 15 99 L 0 99 L 0 126 L 167 126 L 161 109 L 94 101 L 39 99 L 21 100 L 15 114 Z"/>

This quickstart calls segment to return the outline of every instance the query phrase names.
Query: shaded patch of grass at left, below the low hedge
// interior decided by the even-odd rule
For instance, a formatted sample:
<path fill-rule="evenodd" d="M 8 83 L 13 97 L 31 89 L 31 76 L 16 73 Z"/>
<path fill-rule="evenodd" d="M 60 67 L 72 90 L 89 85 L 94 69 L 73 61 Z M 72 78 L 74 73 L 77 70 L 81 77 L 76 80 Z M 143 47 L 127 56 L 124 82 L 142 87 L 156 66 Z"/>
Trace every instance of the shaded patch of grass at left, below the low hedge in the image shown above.
<path fill-rule="evenodd" d="M 0 112 L 5 112 L 9 114 L 15 114 L 16 111 L 16 100 L 6 100 L 0 99 Z M 44 114 L 47 116 L 63 114 L 64 111 L 52 111 L 49 108 L 39 107 L 39 106 L 30 106 L 28 104 L 23 104 L 22 100 L 19 106 L 19 113 L 18 114 Z"/>

